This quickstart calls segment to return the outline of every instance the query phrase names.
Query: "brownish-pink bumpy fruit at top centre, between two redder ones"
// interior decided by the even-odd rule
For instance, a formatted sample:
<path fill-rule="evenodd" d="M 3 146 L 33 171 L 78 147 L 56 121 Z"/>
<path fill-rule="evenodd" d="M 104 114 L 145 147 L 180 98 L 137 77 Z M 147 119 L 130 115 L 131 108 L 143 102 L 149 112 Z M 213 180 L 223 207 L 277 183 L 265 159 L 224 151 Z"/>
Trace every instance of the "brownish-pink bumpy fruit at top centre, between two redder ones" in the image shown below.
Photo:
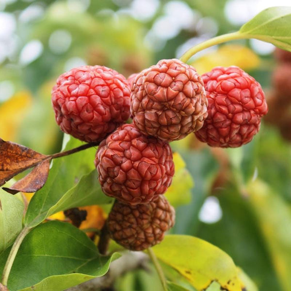
<path fill-rule="evenodd" d="M 200 129 L 207 116 L 202 78 L 177 59 L 161 60 L 139 73 L 130 98 L 134 125 L 165 141 Z"/>

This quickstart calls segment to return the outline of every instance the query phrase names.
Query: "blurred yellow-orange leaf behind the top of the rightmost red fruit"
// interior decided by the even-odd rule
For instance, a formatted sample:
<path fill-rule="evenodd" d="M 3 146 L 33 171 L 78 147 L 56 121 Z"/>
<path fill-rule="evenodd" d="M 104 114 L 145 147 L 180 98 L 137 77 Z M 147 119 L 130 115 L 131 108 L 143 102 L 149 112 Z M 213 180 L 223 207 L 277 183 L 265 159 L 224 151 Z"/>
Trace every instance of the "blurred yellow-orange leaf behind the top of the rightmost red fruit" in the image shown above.
<path fill-rule="evenodd" d="M 251 70 L 259 66 L 259 57 L 247 47 L 225 45 L 195 60 L 191 65 L 199 74 L 209 72 L 215 66 L 236 65 L 243 70 Z"/>

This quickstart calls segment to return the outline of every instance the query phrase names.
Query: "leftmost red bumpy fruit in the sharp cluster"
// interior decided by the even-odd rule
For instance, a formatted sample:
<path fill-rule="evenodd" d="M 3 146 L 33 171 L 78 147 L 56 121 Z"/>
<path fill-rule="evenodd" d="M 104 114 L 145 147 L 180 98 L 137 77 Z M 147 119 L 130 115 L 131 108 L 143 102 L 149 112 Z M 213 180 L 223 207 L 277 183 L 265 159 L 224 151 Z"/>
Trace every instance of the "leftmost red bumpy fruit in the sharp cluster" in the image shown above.
<path fill-rule="evenodd" d="M 81 66 L 61 75 L 52 89 L 60 128 L 85 141 L 101 141 L 129 118 L 129 84 L 105 66 Z"/>

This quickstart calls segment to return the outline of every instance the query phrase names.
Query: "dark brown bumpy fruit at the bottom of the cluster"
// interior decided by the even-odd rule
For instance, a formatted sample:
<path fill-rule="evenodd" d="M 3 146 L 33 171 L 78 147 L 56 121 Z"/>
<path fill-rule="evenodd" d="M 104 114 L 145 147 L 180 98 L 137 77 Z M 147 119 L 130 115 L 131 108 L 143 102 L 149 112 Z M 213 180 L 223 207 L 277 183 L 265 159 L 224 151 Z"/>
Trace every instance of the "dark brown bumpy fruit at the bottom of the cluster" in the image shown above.
<path fill-rule="evenodd" d="M 142 251 L 160 243 L 174 222 L 174 208 L 160 195 L 146 205 L 115 203 L 107 226 L 115 242 L 129 250 Z"/>

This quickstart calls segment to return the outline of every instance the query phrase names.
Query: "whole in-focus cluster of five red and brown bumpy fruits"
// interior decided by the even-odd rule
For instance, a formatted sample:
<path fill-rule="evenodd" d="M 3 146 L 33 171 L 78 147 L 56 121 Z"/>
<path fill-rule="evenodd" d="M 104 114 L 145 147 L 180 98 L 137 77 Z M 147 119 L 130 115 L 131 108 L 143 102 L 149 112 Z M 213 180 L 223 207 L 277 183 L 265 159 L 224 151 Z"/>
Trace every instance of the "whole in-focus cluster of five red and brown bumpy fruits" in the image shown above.
<path fill-rule="evenodd" d="M 175 210 L 162 195 L 174 176 L 169 142 L 194 132 L 210 146 L 241 146 L 268 111 L 259 83 L 242 69 L 216 67 L 199 76 L 177 59 L 128 80 L 104 66 L 72 69 L 57 80 L 52 104 L 64 132 L 100 142 L 99 182 L 116 198 L 107 227 L 130 250 L 161 242 L 174 225 Z"/>

